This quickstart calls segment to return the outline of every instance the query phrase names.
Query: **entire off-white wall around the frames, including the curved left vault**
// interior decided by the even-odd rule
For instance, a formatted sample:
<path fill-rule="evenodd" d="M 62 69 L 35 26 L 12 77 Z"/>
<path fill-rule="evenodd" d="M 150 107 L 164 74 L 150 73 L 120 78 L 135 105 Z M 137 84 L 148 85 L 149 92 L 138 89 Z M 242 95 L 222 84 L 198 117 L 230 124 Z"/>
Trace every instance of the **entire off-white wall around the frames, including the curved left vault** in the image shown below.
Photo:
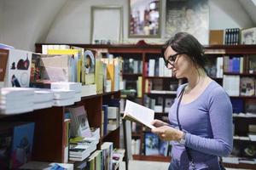
<path fill-rule="evenodd" d="M 165 9 L 166 0 L 162 2 Z M 124 42 L 138 40 L 128 38 L 128 0 L 0 0 L 0 5 L 3 6 L 0 41 L 15 48 L 33 51 L 35 42 L 90 43 L 90 7 L 93 5 L 123 6 Z M 238 0 L 209 0 L 209 5 L 210 29 L 253 26 Z M 165 28 L 165 10 L 162 13 L 161 23 Z M 161 31 L 162 37 L 164 31 Z M 165 40 L 146 41 L 162 43 Z"/>

